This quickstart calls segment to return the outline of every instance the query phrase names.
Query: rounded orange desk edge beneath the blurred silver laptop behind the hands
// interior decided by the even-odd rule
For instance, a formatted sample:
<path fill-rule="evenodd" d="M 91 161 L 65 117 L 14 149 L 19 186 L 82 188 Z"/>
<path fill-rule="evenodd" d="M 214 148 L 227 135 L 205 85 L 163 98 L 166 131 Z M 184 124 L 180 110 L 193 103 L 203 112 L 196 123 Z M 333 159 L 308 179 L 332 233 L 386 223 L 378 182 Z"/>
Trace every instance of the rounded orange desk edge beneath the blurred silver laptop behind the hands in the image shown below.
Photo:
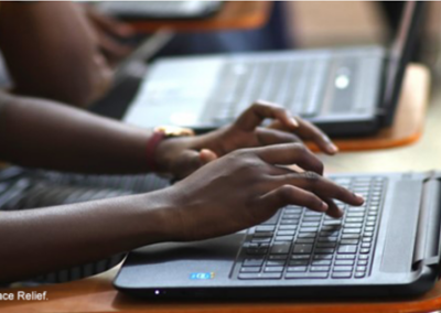
<path fill-rule="evenodd" d="M 429 69 L 418 64 L 409 65 L 406 71 L 394 125 L 381 129 L 375 136 L 335 139 L 335 144 L 341 151 L 362 151 L 396 148 L 416 142 L 421 137 L 424 128 L 429 87 Z M 308 145 L 316 151 L 315 147 Z"/>

